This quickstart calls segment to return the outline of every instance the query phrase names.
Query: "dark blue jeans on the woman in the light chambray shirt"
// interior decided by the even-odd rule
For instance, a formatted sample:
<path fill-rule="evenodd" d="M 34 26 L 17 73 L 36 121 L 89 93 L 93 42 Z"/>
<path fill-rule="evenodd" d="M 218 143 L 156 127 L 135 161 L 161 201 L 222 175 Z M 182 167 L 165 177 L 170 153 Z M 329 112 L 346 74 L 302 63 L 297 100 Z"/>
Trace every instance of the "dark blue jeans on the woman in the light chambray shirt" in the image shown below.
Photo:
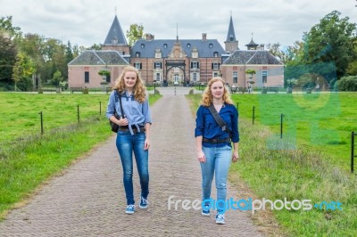
<path fill-rule="evenodd" d="M 145 133 L 130 135 L 129 132 L 118 131 L 117 149 L 123 169 L 123 183 L 127 197 L 127 205 L 135 204 L 133 188 L 133 151 L 137 161 L 137 172 L 140 177 L 141 195 L 147 199 L 149 195 L 148 150 L 144 150 Z"/>

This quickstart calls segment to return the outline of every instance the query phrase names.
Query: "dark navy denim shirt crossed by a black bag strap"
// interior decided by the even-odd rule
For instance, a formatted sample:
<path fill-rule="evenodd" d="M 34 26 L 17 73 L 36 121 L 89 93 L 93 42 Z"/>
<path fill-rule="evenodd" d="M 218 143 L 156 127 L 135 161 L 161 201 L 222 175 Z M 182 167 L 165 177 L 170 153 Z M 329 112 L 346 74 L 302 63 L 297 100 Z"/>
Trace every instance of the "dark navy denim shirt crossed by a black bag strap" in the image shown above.
<path fill-rule="evenodd" d="M 225 103 L 219 112 L 220 118 L 222 118 L 232 134 L 232 142 L 239 142 L 239 133 L 238 133 L 238 111 L 233 104 Z M 229 135 L 226 131 L 222 131 L 220 126 L 217 124 L 216 120 L 213 118 L 211 111 L 208 107 L 201 105 L 196 113 L 195 119 L 195 136 L 203 136 L 207 139 L 225 139 Z M 227 143 L 203 143 L 205 147 L 220 147 L 224 146 Z M 231 144 L 228 143 L 230 146 Z"/>

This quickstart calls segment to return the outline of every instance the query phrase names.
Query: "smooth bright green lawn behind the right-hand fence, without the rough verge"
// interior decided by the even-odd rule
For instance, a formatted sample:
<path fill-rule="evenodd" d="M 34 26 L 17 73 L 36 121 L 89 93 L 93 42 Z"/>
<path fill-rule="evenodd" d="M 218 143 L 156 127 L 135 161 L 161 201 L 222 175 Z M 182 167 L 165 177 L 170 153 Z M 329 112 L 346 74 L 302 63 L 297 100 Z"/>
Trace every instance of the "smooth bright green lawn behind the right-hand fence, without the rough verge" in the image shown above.
<path fill-rule="evenodd" d="M 270 127 L 267 144 L 280 140 L 283 114 L 283 140 L 286 146 L 309 147 L 328 154 L 329 162 L 350 170 L 351 133 L 357 132 L 357 94 L 234 94 L 240 118 L 253 119 Z M 288 144 L 287 144 L 288 143 Z M 357 164 L 356 164 L 357 165 Z"/>

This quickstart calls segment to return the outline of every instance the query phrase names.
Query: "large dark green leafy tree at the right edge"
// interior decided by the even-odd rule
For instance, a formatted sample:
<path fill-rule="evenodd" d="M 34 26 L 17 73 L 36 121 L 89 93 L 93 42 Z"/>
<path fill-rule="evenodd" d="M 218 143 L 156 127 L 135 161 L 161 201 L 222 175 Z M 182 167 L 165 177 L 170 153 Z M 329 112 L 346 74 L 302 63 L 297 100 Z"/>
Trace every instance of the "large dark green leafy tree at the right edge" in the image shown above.
<path fill-rule="evenodd" d="M 350 23 L 348 17 L 340 18 L 340 15 L 341 12 L 337 11 L 328 13 L 303 36 L 302 62 L 310 65 L 311 73 L 324 78 L 345 76 L 349 62 L 357 59 L 354 50 L 357 43 L 356 24 Z M 331 69 L 336 69 L 336 73 Z"/>

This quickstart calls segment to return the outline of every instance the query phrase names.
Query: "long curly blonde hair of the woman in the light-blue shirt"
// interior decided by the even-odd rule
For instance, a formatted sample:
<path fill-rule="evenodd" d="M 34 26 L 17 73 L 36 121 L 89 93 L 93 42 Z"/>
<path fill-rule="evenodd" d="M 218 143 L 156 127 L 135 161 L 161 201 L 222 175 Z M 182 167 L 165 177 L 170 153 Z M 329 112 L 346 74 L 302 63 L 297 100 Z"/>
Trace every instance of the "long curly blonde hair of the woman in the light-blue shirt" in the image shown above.
<path fill-rule="evenodd" d="M 125 91 L 124 77 L 125 77 L 125 73 L 127 73 L 128 71 L 133 71 L 137 73 L 137 81 L 134 85 L 134 90 L 133 90 L 135 100 L 141 103 L 145 102 L 146 88 L 140 77 L 139 71 L 132 66 L 127 66 L 123 69 L 123 71 L 120 74 L 120 77 L 115 80 L 115 85 L 112 87 L 112 89 L 118 90 L 119 93 L 123 93 Z"/>

